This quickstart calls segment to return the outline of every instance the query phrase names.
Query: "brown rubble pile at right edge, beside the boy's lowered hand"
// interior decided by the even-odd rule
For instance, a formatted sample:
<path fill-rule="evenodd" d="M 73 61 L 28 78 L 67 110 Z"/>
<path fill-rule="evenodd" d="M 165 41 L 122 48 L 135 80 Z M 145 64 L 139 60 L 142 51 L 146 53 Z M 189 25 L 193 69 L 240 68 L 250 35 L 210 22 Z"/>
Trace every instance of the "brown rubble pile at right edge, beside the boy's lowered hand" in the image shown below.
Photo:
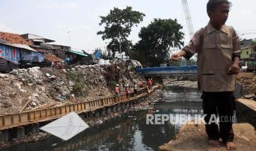
<path fill-rule="evenodd" d="M 243 85 L 244 94 L 256 95 L 256 75 L 254 73 L 239 73 L 237 75 L 237 82 Z"/>

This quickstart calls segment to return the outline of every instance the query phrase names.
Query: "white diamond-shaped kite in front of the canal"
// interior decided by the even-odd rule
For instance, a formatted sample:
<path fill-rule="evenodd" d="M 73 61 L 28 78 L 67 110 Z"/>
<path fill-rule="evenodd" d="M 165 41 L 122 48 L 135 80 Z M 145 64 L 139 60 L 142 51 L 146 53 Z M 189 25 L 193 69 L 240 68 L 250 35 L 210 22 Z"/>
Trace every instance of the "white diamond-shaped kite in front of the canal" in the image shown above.
<path fill-rule="evenodd" d="M 69 140 L 89 126 L 75 112 L 64 115 L 51 123 L 40 127 L 40 130 L 55 135 L 62 140 Z"/>

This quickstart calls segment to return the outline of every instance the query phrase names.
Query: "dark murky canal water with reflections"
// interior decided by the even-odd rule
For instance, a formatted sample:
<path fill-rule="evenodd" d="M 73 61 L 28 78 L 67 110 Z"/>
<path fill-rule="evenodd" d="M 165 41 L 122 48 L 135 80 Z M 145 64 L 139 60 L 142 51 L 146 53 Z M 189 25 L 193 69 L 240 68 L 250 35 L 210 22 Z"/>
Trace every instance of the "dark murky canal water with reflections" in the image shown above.
<path fill-rule="evenodd" d="M 158 150 L 159 146 L 175 137 L 182 123 L 172 120 L 156 124 L 151 120 L 154 125 L 147 124 L 147 114 L 166 114 L 173 119 L 181 115 L 203 114 L 196 89 L 165 88 L 162 99 L 164 102 L 155 104 L 150 111 L 124 113 L 100 126 L 86 129 L 68 141 L 50 137 L 4 150 Z"/>

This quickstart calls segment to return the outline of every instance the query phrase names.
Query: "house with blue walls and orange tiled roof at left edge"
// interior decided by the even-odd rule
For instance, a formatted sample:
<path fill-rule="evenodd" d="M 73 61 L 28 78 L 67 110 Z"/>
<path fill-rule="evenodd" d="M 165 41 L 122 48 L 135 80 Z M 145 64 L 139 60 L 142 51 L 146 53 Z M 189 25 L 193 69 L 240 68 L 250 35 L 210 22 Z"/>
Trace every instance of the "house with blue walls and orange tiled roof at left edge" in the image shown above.
<path fill-rule="evenodd" d="M 18 67 L 18 62 L 26 55 L 37 55 L 43 61 L 44 54 L 29 45 L 19 34 L 0 32 L 0 71 L 10 71 Z"/>

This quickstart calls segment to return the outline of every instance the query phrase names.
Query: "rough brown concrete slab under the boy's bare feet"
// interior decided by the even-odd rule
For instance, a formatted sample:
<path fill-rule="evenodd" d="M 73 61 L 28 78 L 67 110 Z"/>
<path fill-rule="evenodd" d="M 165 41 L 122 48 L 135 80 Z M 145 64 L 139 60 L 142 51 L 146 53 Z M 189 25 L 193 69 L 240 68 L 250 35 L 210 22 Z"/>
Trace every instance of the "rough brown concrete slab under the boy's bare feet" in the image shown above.
<path fill-rule="evenodd" d="M 256 131 L 248 123 L 233 124 L 237 150 L 256 150 Z M 208 145 L 205 126 L 185 124 L 179 130 L 175 139 L 159 147 L 159 150 L 226 150 L 224 144 L 220 148 Z"/>

